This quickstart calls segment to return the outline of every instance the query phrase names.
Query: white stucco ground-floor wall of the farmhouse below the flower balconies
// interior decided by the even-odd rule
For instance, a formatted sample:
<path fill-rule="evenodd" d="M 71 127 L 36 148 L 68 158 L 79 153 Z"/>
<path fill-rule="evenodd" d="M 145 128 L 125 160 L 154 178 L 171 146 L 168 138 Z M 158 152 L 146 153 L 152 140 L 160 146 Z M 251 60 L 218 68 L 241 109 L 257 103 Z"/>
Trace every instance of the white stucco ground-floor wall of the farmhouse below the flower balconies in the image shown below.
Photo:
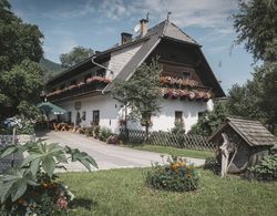
<path fill-rule="evenodd" d="M 86 119 L 85 121 L 82 120 L 81 126 L 90 126 L 93 111 L 99 110 L 100 125 L 110 127 L 114 133 L 119 132 L 119 120 L 124 117 L 124 112 L 116 100 L 110 95 L 99 95 L 59 103 L 58 105 L 72 113 L 72 123 L 74 123 L 76 119 L 78 111 L 75 110 L 75 102 L 79 101 L 81 102 L 81 109 L 79 110 L 80 115 L 82 116 L 83 111 L 86 113 Z M 172 130 L 175 126 L 175 112 L 181 111 L 183 112 L 184 128 L 188 132 L 192 126 L 197 123 L 199 112 L 211 111 L 213 109 L 213 101 L 196 102 L 163 99 L 161 105 L 161 112 L 152 117 L 152 131 Z M 136 130 L 144 128 L 138 121 L 129 121 L 127 127 Z"/>

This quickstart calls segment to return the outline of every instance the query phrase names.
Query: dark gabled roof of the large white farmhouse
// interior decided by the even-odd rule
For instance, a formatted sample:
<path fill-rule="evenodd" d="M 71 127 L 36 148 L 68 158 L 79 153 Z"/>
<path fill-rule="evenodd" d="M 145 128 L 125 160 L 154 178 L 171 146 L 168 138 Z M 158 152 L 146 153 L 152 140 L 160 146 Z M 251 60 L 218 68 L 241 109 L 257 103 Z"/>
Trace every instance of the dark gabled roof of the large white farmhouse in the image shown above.
<path fill-rule="evenodd" d="M 204 60 L 204 63 L 207 68 L 207 71 L 208 71 L 207 76 L 208 76 L 209 82 L 213 84 L 214 90 L 216 91 L 216 96 L 217 97 L 225 96 L 224 91 L 222 90 L 204 54 L 201 51 L 201 45 L 195 40 L 193 40 L 189 35 L 187 35 L 185 32 L 178 29 L 174 23 L 170 22 L 168 20 L 165 20 L 156 24 L 155 27 L 151 28 L 145 34 L 145 37 L 143 38 L 137 38 L 134 41 L 129 42 L 126 44 L 111 48 L 109 50 L 94 54 L 93 56 L 80 62 L 79 64 L 65 70 L 58 76 L 53 78 L 52 80 L 48 82 L 48 84 L 51 84 L 58 80 L 61 80 L 65 78 L 68 74 L 78 73 L 79 72 L 78 69 L 84 66 L 84 64 L 85 65 L 92 64 L 91 62 L 92 58 L 94 59 L 95 62 L 102 63 L 101 60 L 103 61 L 104 59 L 110 56 L 112 52 L 124 50 L 125 48 L 130 48 L 132 45 L 136 45 L 140 43 L 141 44 L 140 50 L 134 54 L 134 56 L 123 66 L 123 69 L 116 75 L 116 79 L 119 80 L 129 80 L 135 72 L 135 69 L 140 66 L 146 60 L 146 58 L 157 47 L 161 40 L 173 40 L 176 42 L 181 42 L 181 43 L 195 47 L 195 49 L 198 50 L 199 56 Z M 109 84 L 105 88 L 104 92 L 109 92 L 112 88 L 112 84 L 113 83 Z"/>

